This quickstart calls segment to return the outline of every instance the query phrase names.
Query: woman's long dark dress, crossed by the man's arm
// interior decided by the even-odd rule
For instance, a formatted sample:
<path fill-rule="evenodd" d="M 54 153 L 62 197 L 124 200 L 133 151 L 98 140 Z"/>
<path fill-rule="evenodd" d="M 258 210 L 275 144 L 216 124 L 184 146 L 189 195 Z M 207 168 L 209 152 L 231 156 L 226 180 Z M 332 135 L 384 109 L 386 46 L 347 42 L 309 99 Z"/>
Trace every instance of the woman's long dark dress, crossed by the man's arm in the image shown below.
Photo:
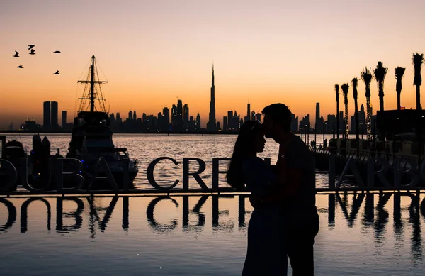
<path fill-rule="evenodd" d="M 244 181 L 251 194 L 260 197 L 273 190 L 276 179 L 271 167 L 261 158 L 249 158 L 243 163 Z M 279 240 L 284 234 L 279 223 L 278 204 L 268 204 L 254 209 L 248 226 L 248 249 L 243 276 L 246 275 L 286 275 L 288 259 Z"/>

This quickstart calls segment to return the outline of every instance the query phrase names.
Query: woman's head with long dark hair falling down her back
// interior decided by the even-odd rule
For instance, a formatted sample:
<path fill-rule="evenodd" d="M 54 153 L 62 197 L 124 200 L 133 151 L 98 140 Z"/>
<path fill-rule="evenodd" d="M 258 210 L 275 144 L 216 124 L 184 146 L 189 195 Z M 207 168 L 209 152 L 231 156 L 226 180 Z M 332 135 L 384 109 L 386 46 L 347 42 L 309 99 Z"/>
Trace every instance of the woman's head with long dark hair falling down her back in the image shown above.
<path fill-rule="evenodd" d="M 258 121 L 246 121 L 239 130 L 239 134 L 234 143 L 232 160 L 230 160 L 227 170 L 227 183 L 234 189 L 244 188 L 242 175 L 242 161 L 245 158 L 254 157 L 256 153 L 264 150 L 263 128 Z"/>

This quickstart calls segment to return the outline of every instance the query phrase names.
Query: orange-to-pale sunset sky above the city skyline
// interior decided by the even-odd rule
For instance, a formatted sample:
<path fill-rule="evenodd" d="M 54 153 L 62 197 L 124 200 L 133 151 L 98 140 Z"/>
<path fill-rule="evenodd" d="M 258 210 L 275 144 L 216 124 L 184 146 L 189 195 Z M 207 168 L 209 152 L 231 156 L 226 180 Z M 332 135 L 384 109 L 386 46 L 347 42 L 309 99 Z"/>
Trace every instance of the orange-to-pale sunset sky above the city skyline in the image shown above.
<path fill-rule="evenodd" d="M 212 62 L 217 121 L 231 109 L 245 116 L 248 100 L 254 111 L 283 102 L 314 117 L 320 102 L 322 116 L 334 114 L 334 84 L 378 60 L 389 68 L 385 109 L 396 108 L 397 66 L 407 68 L 402 106 L 415 108 L 412 53 L 425 52 L 424 11 L 423 0 L 1 1 L 0 128 L 27 116 L 42 123 L 47 100 L 72 121 L 91 55 L 109 81 L 110 111 L 125 117 L 130 109 L 156 115 L 179 97 L 205 126 Z M 358 90 L 365 104 L 361 81 Z M 348 106 L 351 115 L 351 87 Z"/>

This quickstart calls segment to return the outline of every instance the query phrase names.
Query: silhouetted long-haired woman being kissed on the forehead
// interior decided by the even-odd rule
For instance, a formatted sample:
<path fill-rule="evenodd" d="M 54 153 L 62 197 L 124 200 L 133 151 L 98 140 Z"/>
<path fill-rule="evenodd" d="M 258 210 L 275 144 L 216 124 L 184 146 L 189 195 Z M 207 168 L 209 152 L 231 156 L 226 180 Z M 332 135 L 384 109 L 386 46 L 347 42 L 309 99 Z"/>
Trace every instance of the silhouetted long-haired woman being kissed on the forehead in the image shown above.
<path fill-rule="evenodd" d="M 252 195 L 265 197 L 276 190 L 276 183 L 285 179 L 285 170 L 276 170 L 258 158 L 264 150 L 263 129 L 257 121 L 246 121 L 237 136 L 232 160 L 227 170 L 227 183 L 234 189 L 246 188 Z M 282 166 L 285 166 L 281 162 Z M 287 258 L 280 237 L 284 233 L 279 228 L 279 205 L 262 204 L 254 209 L 248 226 L 248 248 L 242 275 L 287 275 Z"/>

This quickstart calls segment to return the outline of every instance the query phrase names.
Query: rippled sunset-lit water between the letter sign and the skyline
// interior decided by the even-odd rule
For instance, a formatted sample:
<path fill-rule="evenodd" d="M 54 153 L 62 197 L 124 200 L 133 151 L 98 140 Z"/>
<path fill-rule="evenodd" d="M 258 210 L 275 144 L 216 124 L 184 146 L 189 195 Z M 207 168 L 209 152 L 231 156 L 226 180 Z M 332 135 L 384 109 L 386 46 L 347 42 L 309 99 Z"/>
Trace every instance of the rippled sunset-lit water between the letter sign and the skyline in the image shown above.
<path fill-rule="evenodd" d="M 24 148 L 29 153 L 32 149 L 32 135 L 23 134 L 5 134 L 10 139 L 17 139 L 23 143 Z M 41 138 L 44 134 L 40 134 Z M 317 143 L 322 143 L 322 135 L 317 136 Z M 65 155 L 68 152 L 68 145 L 71 136 L 69 134 L 47 134 L 51 143 L 51 152 L 55 154 L 57 148 L 60 153 Z M 179 165 L 175 166 L 169 160 L 159 162 L 155 167 L 155 180 L 164 187 L 173 183 L 174 180 L 180 180 L 176 189 L 181 188 L 183 180 L 183 158 L 200 158 L 205 161 L 206 169 L 200 175 L 208 187 L 212 187 L 212 158 L 230 158 L 236 135 L 170 135 L 166 134 L 116 134 L 113 141 L 116 146 L 128 148 L 130 158 L 140 160 L 139 174 L 135 180 L 135 186 L 140 189 L 152 189 L 147 181 L 146 170 L 150 162 L 154 159 L 168 156 L 174 158 Z M 327 140 L 331 135 L 326 136 Z M 310 140 L 314 139 L 314 135 L 310 134 Z M 267 139 L 266 148 L 260 153 L 261 158 L 271 158 L 271 162 L 276 162 L 278 153 L 278 144 L 272 139 Z M 227 168 L 228 162 L 220 161 L 220 170 Z M 198 162 L 190 162 L 190 172 L 198 170 Z M 196 180 L 191 177 L 190 187 L 200 189 Z M 327 175 L 317 175 L 317 187 L 328 187 Z M 220 175 L 220 187 L 226 187 L 225 175 Z"/>

